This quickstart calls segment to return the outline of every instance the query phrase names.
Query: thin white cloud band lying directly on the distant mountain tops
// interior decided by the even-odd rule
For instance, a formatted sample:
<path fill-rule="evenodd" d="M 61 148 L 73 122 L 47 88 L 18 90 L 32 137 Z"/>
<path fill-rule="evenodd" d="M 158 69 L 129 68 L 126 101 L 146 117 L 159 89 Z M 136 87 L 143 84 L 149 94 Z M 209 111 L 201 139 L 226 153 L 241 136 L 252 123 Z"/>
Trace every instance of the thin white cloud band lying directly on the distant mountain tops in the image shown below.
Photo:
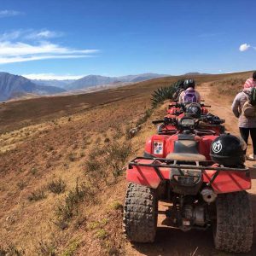
<path fill-rule="evenodd" d="M 57 75 L 55 73 L 29 73 L 23 74 L 23 77 L 26 79 L 42 79 L 42 80 L 68 80 L 68 79 L 81 79 L 85 76 L 84 75 L 71 75 L 71 74 L 64 74 L 64 75 Z"/>

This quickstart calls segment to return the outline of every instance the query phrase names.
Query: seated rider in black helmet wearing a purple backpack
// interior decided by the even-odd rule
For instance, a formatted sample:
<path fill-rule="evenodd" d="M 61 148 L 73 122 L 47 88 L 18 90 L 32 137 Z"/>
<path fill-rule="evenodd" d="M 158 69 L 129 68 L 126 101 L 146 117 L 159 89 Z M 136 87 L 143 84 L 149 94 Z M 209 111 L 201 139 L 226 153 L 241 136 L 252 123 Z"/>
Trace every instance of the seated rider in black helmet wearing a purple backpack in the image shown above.
<path fill-rule="evenodd" d="M 201 103 L 200 93 L 195 90 L 195 80 L 187 79 L 184 81 L 184 90 L 179 95 L 178 102 L 183 103 Z"/>

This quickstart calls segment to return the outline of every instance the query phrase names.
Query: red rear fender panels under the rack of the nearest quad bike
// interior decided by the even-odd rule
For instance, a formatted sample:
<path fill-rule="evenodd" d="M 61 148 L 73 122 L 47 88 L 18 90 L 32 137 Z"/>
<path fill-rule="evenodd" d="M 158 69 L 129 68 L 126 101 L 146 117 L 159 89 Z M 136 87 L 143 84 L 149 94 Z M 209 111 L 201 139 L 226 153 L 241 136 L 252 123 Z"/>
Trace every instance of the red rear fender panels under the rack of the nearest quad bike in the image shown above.
<path fill-rule="evenodd" d="M 213 166 L 176 166 L 163 164 L 164 159 L 137 158 L 130 162 L 126 180 L 157 189 L 162 180 L 170 180 L 172 168 L 200 169 L 203 183 L 211 186 L 217 194 L 251 189 L 249 169 Z"/>

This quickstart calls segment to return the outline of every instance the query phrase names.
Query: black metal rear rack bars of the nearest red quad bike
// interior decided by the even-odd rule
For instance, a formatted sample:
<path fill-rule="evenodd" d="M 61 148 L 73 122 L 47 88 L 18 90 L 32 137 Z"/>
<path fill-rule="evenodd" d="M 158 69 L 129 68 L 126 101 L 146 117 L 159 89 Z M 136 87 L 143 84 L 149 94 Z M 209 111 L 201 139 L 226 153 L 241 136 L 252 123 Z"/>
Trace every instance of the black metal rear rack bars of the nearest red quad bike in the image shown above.
<path fill-rule="evenodd" d="M 152 160 L 150 164 L 142 163 L 140 160 Z M 206 171 L 216 171 L 207 185 L 211 185 L 215 178 L 218 177 L 219 172 L 248 172 L 249 168 L 241 168 L 241 167 L 224 167 L 224 166 L 212 166 L 214 164 L 211 160 L 206 161 L 194 161 L 195 165 L 184 165 L 184 164 L 177 164 L 177 160 L 168 160 L 165 158 L 150 158 L 150 157 L 136 157 L 135 159 L 131 160 L 128 165 L 129 169 L 132 169 L 132 166 L 148 166 L 153 167 L 154 172 L 156 172 L 157 176 L 160 177 L 160 180 L 164 180 L 162 177 L 159 168 L 175 168 L 181 174 L 183 174 L 182 170 L 200 170 L 202 173 L 206 173 Z M 191 163 L 191 161 L 189 161 Z"/>

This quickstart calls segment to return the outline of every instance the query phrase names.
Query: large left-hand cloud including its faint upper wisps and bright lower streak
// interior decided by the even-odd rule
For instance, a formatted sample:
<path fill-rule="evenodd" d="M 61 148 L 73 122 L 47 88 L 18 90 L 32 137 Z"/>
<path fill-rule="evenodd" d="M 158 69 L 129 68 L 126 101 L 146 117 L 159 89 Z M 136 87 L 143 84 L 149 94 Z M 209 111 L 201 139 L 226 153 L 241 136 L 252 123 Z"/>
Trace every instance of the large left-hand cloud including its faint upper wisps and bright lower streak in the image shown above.
<path fill-rule="evenodd" d="M 49 38 L 63 36 L 63 32 L 43 30 L 15 30 L 0 34 L 0 64 L 46 59 L 74 59 L 92 57 L 98 49 L 74 49 L 49 42 Z"/>

